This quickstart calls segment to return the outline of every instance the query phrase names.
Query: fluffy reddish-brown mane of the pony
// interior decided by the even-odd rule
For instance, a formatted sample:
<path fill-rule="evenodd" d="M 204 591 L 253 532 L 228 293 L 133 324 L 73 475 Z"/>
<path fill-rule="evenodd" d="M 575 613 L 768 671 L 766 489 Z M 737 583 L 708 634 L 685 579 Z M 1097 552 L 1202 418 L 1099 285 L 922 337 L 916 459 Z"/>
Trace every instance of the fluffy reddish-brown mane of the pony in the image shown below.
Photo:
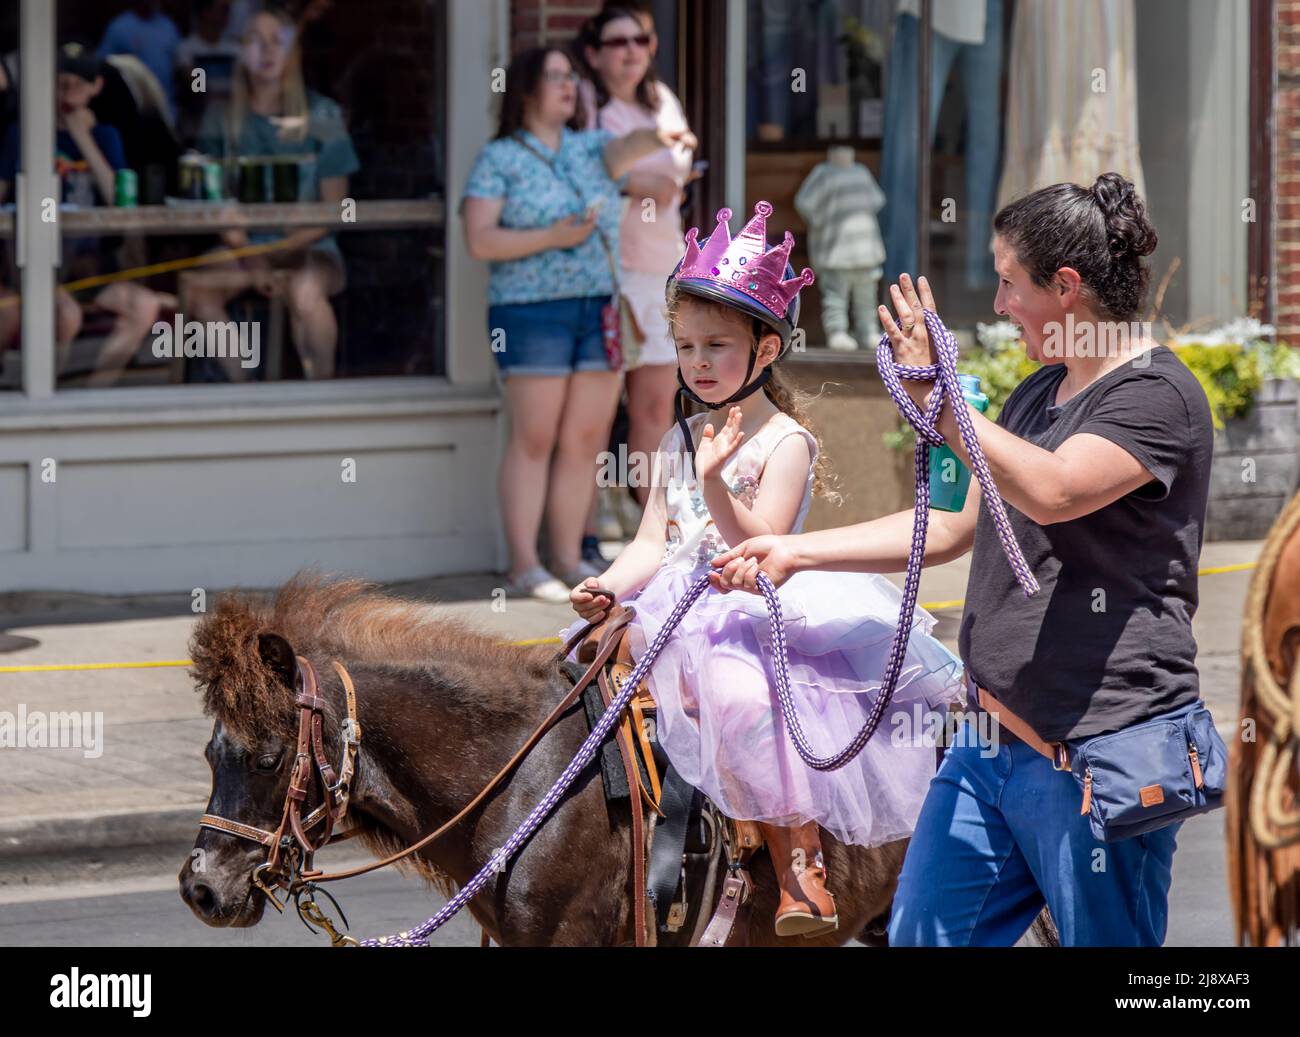
<path fill-rule="evenodd" d="M 329 659 L 424 673 L 472 669 L 503 687 L 545 677 L 555 660 L 545 646 L 510 645 L 373 582 L 308 570 L 269 599 L 220 595 L 190 638 L 190 676 L 203 711 L 244 745 L 268 734 L 292 738 L 298 729 L 294 691 L 261 659 L 261 634 L 280 634 L 326 682 L 333 678 Z"/>

